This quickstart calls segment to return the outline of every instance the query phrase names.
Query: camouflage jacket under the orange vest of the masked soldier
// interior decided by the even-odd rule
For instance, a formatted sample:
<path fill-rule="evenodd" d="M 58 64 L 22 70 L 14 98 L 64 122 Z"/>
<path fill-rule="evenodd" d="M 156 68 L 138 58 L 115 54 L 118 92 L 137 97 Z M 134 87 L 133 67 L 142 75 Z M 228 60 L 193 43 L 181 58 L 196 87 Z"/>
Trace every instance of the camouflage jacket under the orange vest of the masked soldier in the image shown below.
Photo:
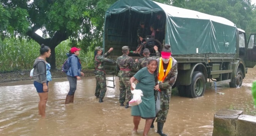
<path fill-rule="evenodd" d="M 159 58 L 157 59 L 157 63 L 159 68 Z M 172 86 L 176 81 L 177 75 L 178 75 L 177 61 L 174 58 L 172 58 L 171 70 L 167 74 L 165 80 L 162 83 L 159 83 L 159 88 L 161 92 L 163 92 L 165 95 L 168 95 L 169 97 L 171 96 Z"/>

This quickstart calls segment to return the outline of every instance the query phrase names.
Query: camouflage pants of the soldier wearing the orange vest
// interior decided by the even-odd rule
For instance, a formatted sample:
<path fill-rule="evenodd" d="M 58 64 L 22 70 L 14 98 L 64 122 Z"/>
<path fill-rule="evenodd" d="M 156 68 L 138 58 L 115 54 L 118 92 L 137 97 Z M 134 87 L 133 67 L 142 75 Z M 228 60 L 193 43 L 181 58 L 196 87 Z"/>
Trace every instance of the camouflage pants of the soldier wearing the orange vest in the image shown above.
<path fill-rule="evenodd" d="M 170 90 L 172 91 L 172 90 Z M 160 93 L 157 93 L 157 95 L 160 94 L 160 111 L 156 116 L 156 122 L 160 122 L 160 123 L 165 123 L 166 118 L 167 118 L 167 114 L 169 111 L 169 103 L 170 103 L 170 94 L 171 93 L 167 93 L 167 90 L 161 90 Z"/>

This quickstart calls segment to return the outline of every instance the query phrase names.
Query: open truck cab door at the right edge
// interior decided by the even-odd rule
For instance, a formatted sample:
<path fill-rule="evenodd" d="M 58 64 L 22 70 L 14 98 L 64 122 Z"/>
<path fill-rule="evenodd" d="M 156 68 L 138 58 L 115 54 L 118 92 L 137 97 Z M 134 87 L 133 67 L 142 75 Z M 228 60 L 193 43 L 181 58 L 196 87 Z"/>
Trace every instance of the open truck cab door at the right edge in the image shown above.
<path fill-rule="evenodd" d="M 246 48 L 246 67 L 253 68 L 256 65 L 256 43 L 255 35 L 251 34 Z"/>

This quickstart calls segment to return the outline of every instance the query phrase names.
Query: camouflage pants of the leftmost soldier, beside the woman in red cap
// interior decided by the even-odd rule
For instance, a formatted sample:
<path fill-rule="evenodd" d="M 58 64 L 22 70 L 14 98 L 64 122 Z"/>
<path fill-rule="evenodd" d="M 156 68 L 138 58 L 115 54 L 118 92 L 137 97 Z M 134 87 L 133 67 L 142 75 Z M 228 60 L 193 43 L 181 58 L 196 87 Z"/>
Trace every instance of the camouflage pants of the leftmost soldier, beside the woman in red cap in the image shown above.
<path fill-rule="evenodd" d="M 96 78 L 96 89 L 95 89 L 94 95 L 99 96 L 99 98 L 103 99 L 107 91 L 106 76 L 95 74 L 95 78 Z"/>

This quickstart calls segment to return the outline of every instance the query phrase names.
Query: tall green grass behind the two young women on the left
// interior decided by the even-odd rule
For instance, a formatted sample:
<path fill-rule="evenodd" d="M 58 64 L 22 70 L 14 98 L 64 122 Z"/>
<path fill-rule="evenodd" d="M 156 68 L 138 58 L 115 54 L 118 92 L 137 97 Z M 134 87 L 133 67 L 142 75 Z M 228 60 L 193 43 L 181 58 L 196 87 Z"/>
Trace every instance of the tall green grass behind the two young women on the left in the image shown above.
<path fill-rule="evenodd" d="M 56 68 L 61 68 L 70 48 L 69 40 L 62 41 L 55 48 Z M 34 40 L 15 38 L 0 40 L 0 72 L 32 69 L 35 58 L 40 55 L 39 50 L 40 46 Z M 82 49 L 79 58 L 81 58 L 83 69 L 94 68 L 93 51 L 85 53 Z"/>

